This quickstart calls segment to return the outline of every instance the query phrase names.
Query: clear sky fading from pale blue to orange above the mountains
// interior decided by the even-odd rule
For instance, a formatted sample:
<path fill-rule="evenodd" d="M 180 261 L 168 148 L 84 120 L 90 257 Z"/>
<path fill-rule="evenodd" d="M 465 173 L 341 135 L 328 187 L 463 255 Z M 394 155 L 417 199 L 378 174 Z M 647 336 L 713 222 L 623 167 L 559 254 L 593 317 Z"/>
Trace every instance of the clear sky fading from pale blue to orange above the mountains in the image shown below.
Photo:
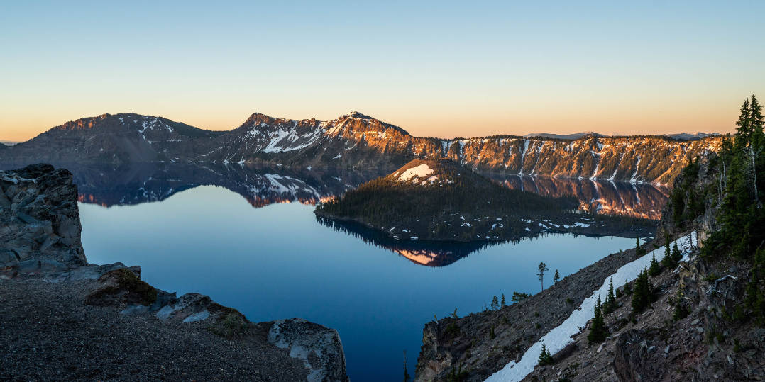
<path fill-rule="evenodd" d="M 532 3 L 0 2 L 0 139 L 119 112 L 229 130 L 356 110 L 441 138 L 728 132 L 765 97 L 765 2 Z"/>

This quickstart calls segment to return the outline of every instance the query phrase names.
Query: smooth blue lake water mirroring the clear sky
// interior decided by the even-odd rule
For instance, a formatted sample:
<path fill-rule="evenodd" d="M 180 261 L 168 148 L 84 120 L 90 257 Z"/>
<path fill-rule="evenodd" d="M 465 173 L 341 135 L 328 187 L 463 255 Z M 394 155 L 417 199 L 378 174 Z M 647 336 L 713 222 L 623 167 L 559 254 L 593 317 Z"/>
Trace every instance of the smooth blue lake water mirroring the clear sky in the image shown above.
<path fill-rule="evenodd" d="M 101 203 L 109 207 L 95 204 L 105 196 L 83 193 L 94 186 L 76 177 L 88 261 L 140 265 L 148 283 L 179 296 L 207 294 L 251 321 L 301 317 L 337 329 L 352 380 L 401 378 L 403 351 L 414 374 L 425 322 L 454 308 L 460 316 L 481 310 L 493 295 L 509 299 L 513 291 L 538 292 L 540 261 L 550 267 L 547 285 L 556 269 L 565 276 L 635 243 L 546 235 L 472 248 L 447 265 L 425 266 L 417 260 L 428 258 L 427 248 L 412 254 L 369 244 L 317 222 L 314 206 L 272 203 L 263 189 L 250 189 L 255 196 L 249 197 L 246 187 L 235 193 L 234 186 L 210 186 L 215 183 L 210 181 L 172 187 L 171 176 L 162 180 L 170 186 L 151 189 L 156 176 L 121 183 L 130 193 L 107 193 L 122 195 Z M 348 186 L 340 176 L 328 177 L 337 179 L 340 189 Z M 276 178 L 282 188 L 270 190 L 305 193 L 291 200 L 322 197 L 311 181 L 301 186 L 295 176 L 286 178 Z M 109 186 L 119 191 L 119 184 Z M 143 199 L 131 202 L 133 195 Z"/>

